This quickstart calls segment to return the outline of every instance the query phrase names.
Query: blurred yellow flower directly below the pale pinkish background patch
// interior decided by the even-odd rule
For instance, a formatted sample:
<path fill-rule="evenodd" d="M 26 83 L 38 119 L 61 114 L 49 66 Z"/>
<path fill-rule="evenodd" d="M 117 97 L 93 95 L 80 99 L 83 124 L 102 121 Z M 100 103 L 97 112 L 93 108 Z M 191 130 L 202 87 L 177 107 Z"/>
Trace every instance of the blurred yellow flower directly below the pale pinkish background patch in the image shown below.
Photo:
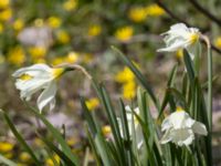
<path fill-rule="evenodd" d="M 46 48 L 44 46 L 32 46 L 29 49 L 29 53 L 32 59 L 43 59 L 46 54 Z"/>

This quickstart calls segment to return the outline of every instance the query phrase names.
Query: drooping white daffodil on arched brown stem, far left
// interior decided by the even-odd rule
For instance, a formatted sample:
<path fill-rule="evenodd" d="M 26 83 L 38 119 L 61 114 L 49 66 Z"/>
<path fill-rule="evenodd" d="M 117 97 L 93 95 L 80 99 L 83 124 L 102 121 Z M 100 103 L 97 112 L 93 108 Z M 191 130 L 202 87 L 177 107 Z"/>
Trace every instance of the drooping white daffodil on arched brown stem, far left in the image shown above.
<path fill-rule="evenodd" d="M 15 87 L 20 90 L 21 98 L 30 101 L 31 96 L 40 91 L 38 107 L 42 112 L 48 104 L 50 110 L 55 106 L 56 82 L 55 80 L 65 71 L 64 68 L 50 68 L 46 64 L 34 64 L 15 71 L 12 76 L 17 79 Z"/>

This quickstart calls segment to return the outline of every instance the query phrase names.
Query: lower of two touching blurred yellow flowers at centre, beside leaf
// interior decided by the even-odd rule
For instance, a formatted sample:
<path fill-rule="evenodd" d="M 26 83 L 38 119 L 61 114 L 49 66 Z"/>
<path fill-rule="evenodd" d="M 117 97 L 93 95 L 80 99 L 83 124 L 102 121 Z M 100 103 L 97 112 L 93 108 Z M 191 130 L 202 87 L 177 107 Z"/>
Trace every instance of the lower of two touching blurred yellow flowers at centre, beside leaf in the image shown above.
<path fill-rule="evenodd" d="M 123 85 L 123 97 L 125 100 L 131 100 L 136 95 L 136 84 L 135 81 L 131 80 L 130 82 L 124 83 Z"/>

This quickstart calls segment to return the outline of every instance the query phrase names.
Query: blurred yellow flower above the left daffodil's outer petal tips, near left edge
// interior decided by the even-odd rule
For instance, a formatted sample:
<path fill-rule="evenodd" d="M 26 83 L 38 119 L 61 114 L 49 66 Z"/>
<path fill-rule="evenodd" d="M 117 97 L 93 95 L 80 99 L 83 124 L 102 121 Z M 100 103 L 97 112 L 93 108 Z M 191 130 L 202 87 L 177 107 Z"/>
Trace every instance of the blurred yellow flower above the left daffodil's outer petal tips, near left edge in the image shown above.
<path fill-rule="evenodd" d="M 13 48 L 7 59 L 10 63 L 14 65 L 21 65 L 25 61 L 25 54 L 21 46 Z"/>

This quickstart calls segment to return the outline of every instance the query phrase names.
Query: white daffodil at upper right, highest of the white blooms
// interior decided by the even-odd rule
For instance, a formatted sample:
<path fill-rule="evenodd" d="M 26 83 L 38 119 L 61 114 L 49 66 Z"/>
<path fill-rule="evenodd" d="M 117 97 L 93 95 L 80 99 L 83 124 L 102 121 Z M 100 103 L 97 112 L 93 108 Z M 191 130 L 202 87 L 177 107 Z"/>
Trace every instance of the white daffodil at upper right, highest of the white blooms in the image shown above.
<path fill-rule="evenodd" d="M 158 52 L 173 52 L 180 49 L 187 49 L 193 59 L 194 44 L 199 41 L 200 31 L 197 28 L 188 28 L 185 23 L 177 23 L 170 27 L 170 30 L 162 33 L 166 48 L 157 50 Z"/>

